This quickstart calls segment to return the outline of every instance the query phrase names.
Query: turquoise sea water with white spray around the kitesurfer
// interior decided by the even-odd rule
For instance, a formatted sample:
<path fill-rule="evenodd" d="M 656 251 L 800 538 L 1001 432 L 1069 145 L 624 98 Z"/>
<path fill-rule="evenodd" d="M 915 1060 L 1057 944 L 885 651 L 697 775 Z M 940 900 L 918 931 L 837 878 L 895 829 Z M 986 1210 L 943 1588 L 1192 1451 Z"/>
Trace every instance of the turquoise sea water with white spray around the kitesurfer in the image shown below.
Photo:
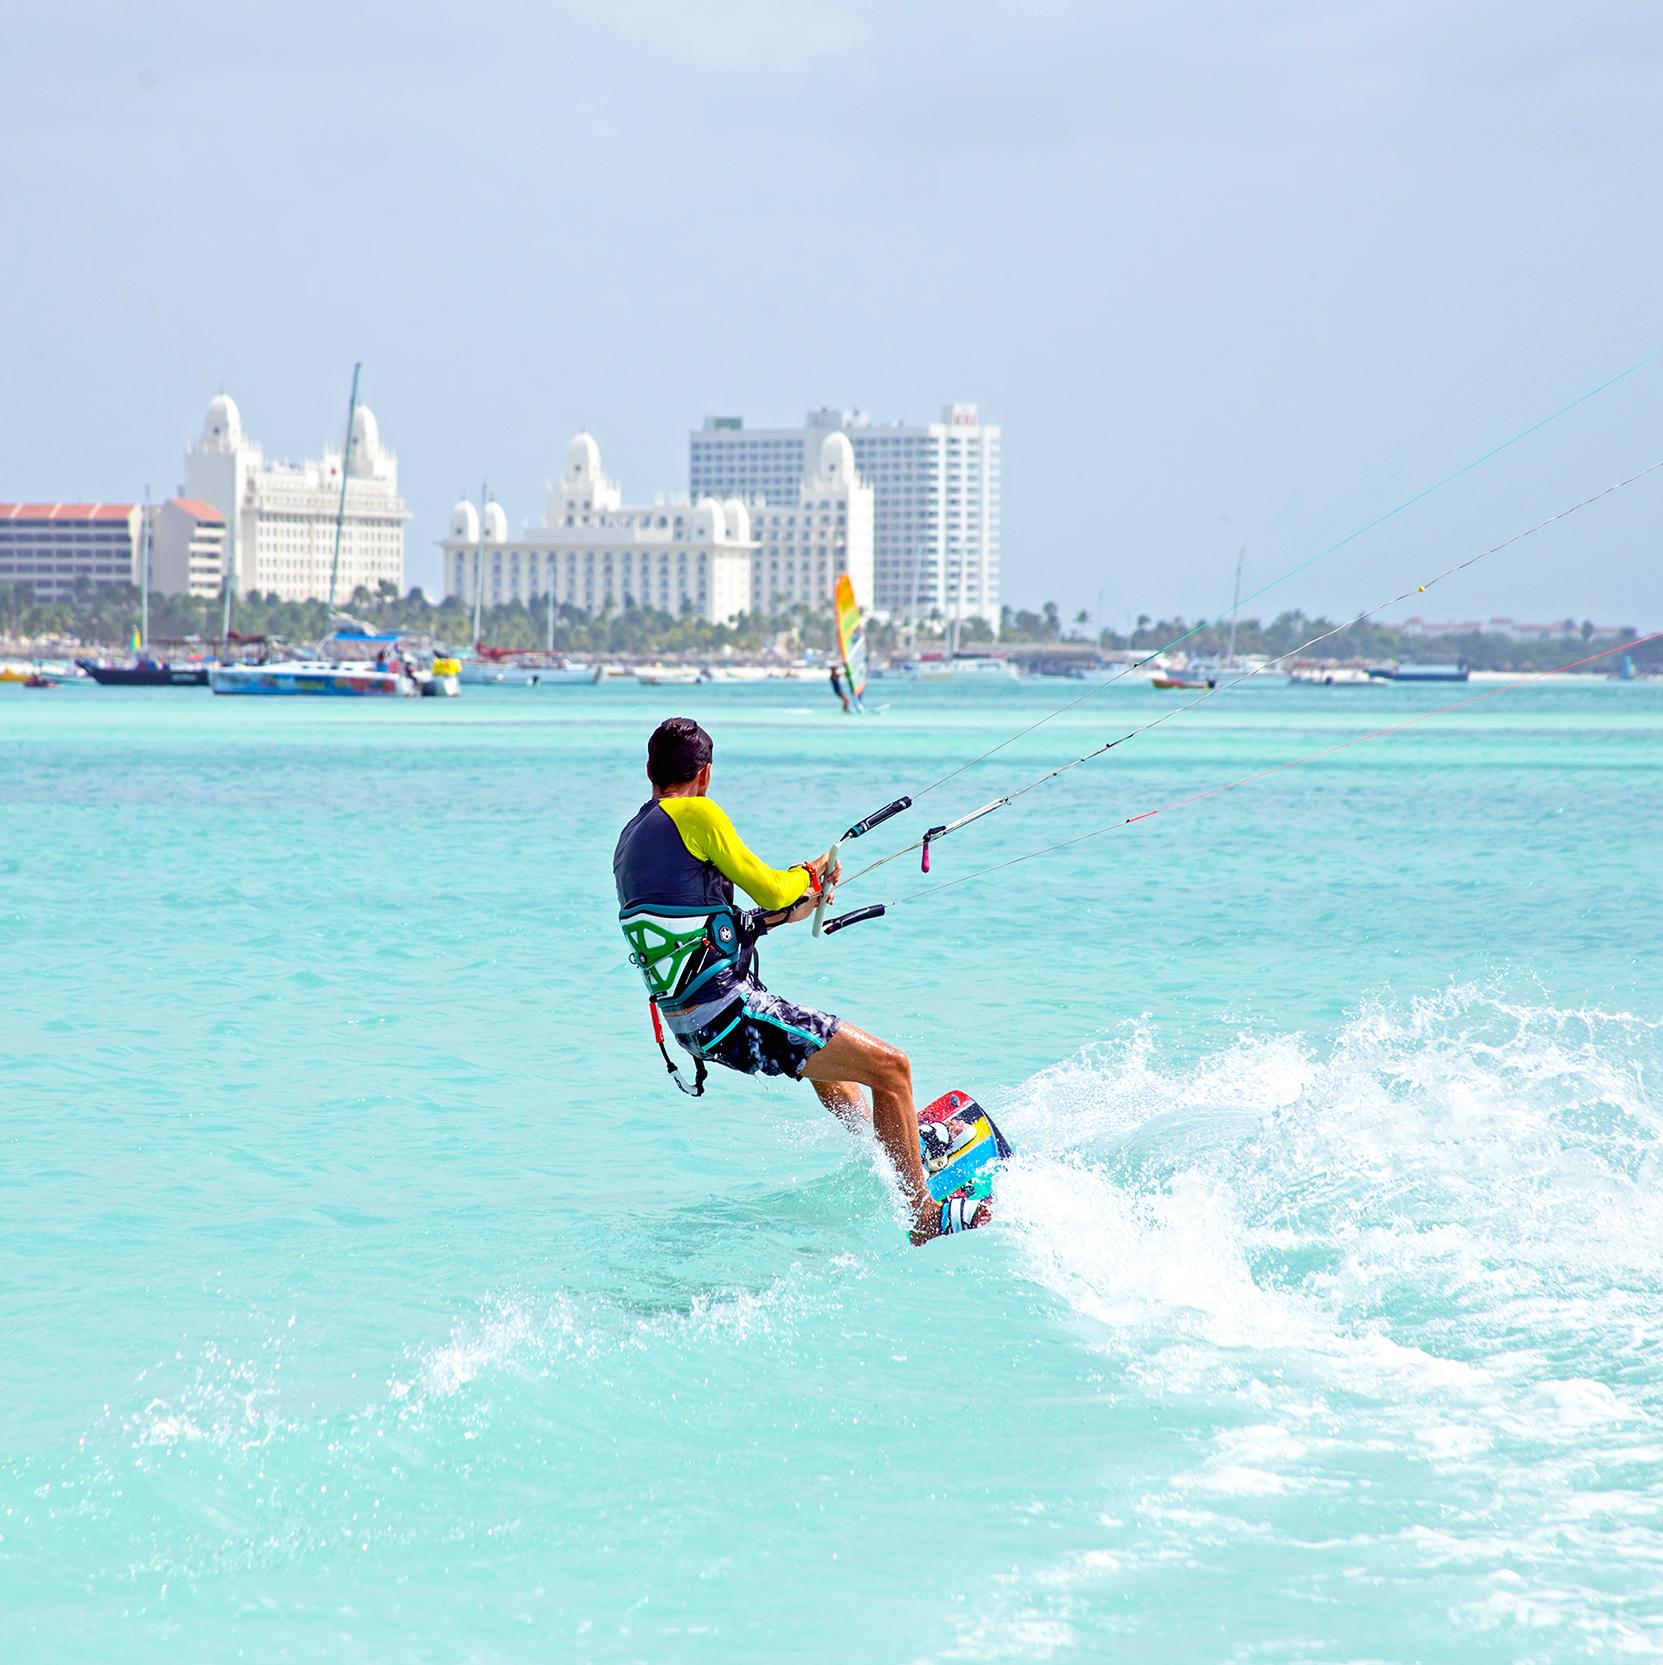
<path fill-rule="evenodd" d="M 806 1089 L 668 1084 L 659 716 L 784 861 L 1075 691 L 0 689 L 5 1658 L 1663 1652 L 1663 688 L 769 942 L 994 1109 L 969 1239 Z M 1225 694 L 936 877 L 1460 693 Z"/>

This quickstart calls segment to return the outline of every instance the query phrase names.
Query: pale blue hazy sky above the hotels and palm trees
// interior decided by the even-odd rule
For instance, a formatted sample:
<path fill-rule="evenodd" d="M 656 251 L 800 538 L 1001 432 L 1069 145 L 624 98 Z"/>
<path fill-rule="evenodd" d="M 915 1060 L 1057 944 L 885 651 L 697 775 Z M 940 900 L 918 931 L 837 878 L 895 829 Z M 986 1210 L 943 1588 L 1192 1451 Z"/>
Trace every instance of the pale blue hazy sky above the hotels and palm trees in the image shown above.
<path fill-rule="evenodd" d="M 1586 0 L 13 8 L 0 500 L 268 456 L 351 366 L 436 586 L 578 428 L 1004 430 L 1004 599 L 1224 611 L 1663 348 L 1663 12 Z M 1663 456 L 1663 358 L 1247 608 L 1340 616 Z M 1425 598 L 1663 624 L 1663 475 Z"/>

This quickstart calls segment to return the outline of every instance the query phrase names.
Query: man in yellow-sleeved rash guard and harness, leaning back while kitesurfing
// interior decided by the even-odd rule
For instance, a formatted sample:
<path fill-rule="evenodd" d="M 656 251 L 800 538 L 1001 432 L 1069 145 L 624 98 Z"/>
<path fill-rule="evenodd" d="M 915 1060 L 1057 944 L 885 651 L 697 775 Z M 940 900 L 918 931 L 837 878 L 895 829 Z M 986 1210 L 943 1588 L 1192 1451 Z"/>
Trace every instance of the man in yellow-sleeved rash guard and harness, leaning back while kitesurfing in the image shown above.
<path fill-rule="evenodd" d="M 824 856 L 784 869 L 752 856 L 709 798 L 711 756 L 711 736 L 693 718 L 659 723 L 648 741 L 653 796 L 613 852 L 618 917 L 648 984 L 654 1029 L 661 1012 L 694 1059 L 694 1086 L 668 1051 L 664 1062 L 694 1096 L 714 1061 L 746 1076 L 806 1079 L 846 1126 L 871 1122 L 907 1197 L 912 1240 L 924 1242 L 941 1229 L 941 1205 L 926 1189 L 906 1052 L 846 1019 L 781 999 L 757 979 L 757 939 L 807 919 L 841 869 L 827 872 Z M 757 907 L 736 909 L 734 886 Z M 871 1109 L 861 1087 L 871 1089 Z"/>

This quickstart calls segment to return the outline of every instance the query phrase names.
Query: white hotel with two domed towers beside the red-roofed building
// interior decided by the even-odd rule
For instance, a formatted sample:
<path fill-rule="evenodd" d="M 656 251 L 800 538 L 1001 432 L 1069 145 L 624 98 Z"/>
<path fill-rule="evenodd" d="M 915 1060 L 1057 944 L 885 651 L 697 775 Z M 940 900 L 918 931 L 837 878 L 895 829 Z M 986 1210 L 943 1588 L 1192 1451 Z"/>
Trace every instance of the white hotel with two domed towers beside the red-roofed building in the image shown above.
<path fill-rule="evenodd" d="M 180 496 L 228 516 L 226 559 L 235 566 L 240 594 L 258 589 L 281 601 L 330 596 L 335 561 L 335 521 L 341 504 L 341 453 L 325 450 L 305 463 L 268 463 L 243 435 L 236 401 L 220 393 L 208 401 L 201 438 L 185 451 Z M 383 579 L 405 589 L 405 521 L 398 495 L 398 458 L 381 445 L 368 405 L 353 413 L 346 455 L 346 514 L 341 526 L 335 599 L 345 604 L 361 584 L 375 591 Z M 175 584 L 180 571 L 168 568 Z M 190 568 L 190 583 L 210 574 Z M 193 593 L 216 593 L 195 589 Z"/>

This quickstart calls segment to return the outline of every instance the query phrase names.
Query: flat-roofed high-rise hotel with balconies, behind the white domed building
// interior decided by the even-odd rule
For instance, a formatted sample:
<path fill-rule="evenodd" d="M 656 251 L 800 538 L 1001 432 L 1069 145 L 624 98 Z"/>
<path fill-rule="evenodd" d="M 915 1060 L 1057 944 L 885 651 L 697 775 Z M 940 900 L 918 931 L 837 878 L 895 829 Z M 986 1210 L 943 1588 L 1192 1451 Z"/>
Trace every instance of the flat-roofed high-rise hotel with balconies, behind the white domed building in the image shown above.
<path fill-rule="evenodd" d="M 999 440 L 974 405 L 934 423 L 874 423 L 862 411 L 809 411 L 801 428 L 746 428 L 707 416 L 689 436 L 693 495 L 771 506 L 801 501 L 829 435 L 846 435 L 872 490 L 872 588 L 891 618 L 982 618 L 999 628 Z"/>

